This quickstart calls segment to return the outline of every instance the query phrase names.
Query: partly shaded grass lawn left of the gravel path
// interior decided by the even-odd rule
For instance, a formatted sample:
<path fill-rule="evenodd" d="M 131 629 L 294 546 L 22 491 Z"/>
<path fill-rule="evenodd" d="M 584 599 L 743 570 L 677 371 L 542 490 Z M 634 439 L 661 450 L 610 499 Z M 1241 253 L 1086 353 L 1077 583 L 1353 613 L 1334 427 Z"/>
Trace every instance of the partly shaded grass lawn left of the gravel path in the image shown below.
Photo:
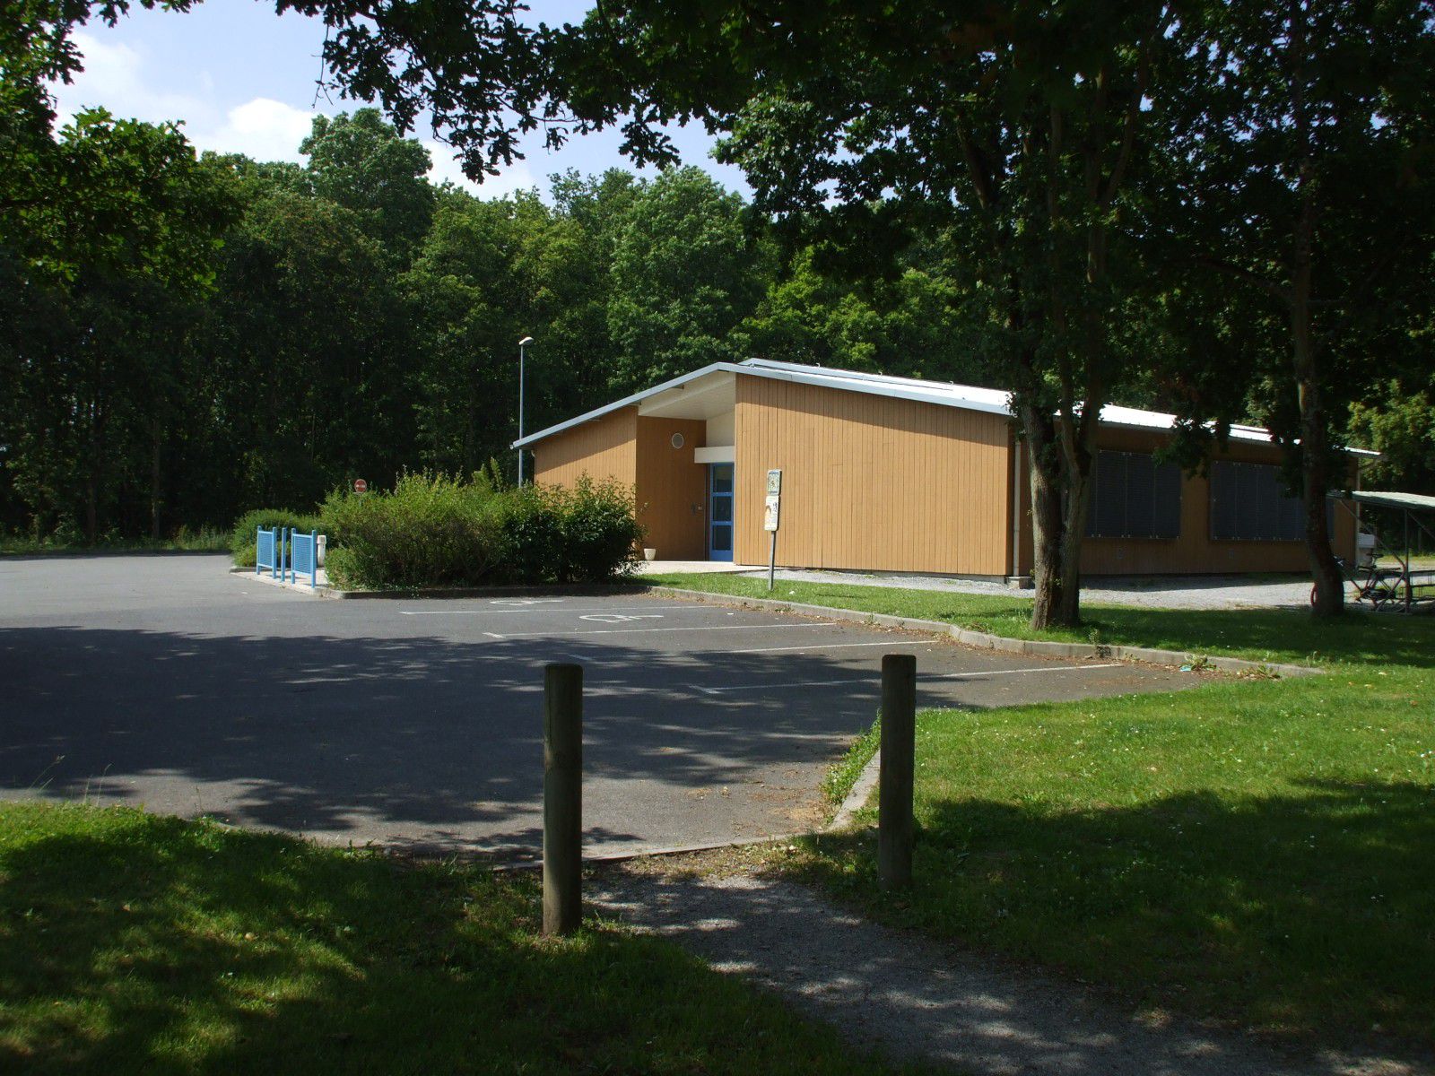
<path fill-rule="evenodd" d="M 887 1072 L 672 944 L 538 918 L 527 874 L 0 805 L 0 1070 Z"/>

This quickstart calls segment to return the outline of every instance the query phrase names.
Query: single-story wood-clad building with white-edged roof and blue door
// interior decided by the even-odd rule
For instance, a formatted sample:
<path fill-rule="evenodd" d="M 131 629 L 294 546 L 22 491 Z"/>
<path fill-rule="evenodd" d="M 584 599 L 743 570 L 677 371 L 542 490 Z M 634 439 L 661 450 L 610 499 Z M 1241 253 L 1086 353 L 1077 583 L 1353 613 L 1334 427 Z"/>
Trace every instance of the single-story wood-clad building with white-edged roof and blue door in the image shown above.
<path fill-rule="evenodd" d="M 1152 452 L 1171 415 L 1102 410 L 1086 574 L 1303 571 L 1300 501 L 1280 449 L 1231 430 L 1208 475 Z M 1007 393 L 749 359 L 713 363 L 515 442 L 535 482 L 631 485 L 660 560 L 768 561 L 768 472 L 781 469 L 776 561 L 791 568 L 986 578 L 1032 571 L 1030 488 Z M 1355 519 L 1332 516 L 1336 552 Z"/>

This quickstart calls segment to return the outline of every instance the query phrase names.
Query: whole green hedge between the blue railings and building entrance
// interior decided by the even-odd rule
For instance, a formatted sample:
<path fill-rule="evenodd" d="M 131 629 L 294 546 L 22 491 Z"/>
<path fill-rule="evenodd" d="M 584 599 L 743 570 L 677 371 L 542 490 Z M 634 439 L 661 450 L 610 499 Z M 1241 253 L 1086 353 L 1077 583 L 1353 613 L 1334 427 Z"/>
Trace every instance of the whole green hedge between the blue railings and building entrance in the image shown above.
<path fill-rule="evenodd" d="M 495 489 L 482 473 L 336 491 L 319 529 L 329 580 L 346 590 L 600 582 L 633 571 L 643 537 L 633 495 L 616 482 Z"/>

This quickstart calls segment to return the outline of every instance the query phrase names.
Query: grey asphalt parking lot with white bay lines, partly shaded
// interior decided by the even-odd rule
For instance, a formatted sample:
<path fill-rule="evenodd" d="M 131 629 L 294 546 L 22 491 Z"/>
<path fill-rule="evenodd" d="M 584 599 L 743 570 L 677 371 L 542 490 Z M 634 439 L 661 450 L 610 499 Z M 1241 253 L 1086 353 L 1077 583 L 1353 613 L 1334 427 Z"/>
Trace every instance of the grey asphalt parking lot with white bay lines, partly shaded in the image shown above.
<path fill-rule="evenodd" d="M 587 849 L 639 851 L 818 822 L 884 653 L 917 654 L 921 706 L 1197 680 L 649 595 L 326 601 L 225 568 L 0 560 L 0 795 L 531 852 L 542 666 L 577 661 Z"/>

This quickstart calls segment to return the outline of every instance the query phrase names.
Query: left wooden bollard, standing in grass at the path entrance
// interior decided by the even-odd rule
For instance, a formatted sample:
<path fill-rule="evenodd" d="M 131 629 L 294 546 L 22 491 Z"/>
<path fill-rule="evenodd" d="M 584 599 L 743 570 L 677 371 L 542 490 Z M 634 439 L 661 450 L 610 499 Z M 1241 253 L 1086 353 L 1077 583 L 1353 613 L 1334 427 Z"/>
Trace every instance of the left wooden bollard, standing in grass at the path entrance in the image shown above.
<path fill-rule="evenodd" d="M 583 920 L 583 667 L 544 666 L 542 933 Z"/>

